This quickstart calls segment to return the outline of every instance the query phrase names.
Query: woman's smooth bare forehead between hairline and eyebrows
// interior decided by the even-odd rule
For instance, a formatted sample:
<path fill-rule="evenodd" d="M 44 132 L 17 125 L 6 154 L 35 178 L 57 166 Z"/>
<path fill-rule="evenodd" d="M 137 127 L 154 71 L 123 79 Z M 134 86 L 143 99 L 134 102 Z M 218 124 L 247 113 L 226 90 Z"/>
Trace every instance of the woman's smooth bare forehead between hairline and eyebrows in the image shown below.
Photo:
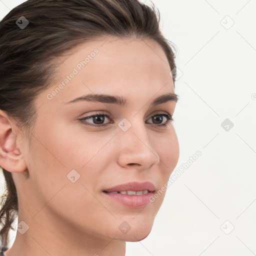
<path fill-rule="evenodd" d="M 62 84 L 54 102 L 86 93 L 121 93 L 139 100 L 158 91 L 174 92 L 167 57 L 152 39 L 97 39 L 72 48 L 60 60 L 57 79 L 47 91 Z"/>

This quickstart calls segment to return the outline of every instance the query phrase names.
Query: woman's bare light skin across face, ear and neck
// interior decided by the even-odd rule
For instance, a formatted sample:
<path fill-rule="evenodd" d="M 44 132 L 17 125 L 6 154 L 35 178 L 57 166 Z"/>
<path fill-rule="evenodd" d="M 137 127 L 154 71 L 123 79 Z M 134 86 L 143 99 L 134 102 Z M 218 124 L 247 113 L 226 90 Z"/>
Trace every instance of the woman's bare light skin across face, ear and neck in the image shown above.
<path fill-rule="evenodd" d="M 66 75 L 94 48 L 99 52 L 52 99 L 47 98 Z M 156 190 L 176 166 L 179 147 L 173 122 L 153 123 L 159 113 L 173 115 L 175 101 L 153 108 L 151 101 L 174 93 L 170 67 L 158 43 L 150 39 L 108 37 L 83 43 L 58 58 L 57 78 L 35 99 L 37 118 L 29 139 L 0 110 L 0 165 L 12 172 L 19 203 L 17 232 L 5 255 L 118 255 L 125 241 L 145 238 L 163 201 L 165 191 L 140 208 L 130 208 L 102 195 L 128 181 L 150 181 Z M 62 62 L 61 62 L 62 61 Z M 124 96 L 127 105 L 66 102 L 88 93 Z M 102 110 L 112 119 L 105 127 L 93 119 L 78 119 Z M 117 125 L 126 118 L 131 127 Z M 163 116 L 162 122 L 166 122 Z M 132 163 L 132 164 L 131 164 Z M 67 174 L 80 178 L 72 183 Z M 126 221 L 127 233 L 118 226 Z M 24 228 L 24 225 L 23 227 Z"/>

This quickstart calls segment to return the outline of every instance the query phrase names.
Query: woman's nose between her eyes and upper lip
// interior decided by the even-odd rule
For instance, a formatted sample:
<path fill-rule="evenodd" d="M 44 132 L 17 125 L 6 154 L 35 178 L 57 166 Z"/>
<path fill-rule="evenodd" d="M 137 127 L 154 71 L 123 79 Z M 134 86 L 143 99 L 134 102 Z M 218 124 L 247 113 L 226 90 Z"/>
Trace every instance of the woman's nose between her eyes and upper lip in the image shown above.
<path fill-rule="evenodd" d="M 134 121 L 126 131 L 118 131 L 118 163 L 124 168 L 136 165 L 136 168 L 148 169 L 158 164 L 160 158 L 148 138 L 145 124 L 137 123 Z"/>

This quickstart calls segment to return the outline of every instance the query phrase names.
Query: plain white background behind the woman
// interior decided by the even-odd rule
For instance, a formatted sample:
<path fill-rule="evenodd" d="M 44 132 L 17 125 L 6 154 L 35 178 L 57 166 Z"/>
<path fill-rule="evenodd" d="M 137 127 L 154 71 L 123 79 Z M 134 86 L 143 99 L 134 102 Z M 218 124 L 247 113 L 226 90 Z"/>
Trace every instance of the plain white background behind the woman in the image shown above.
<path fill-rule="evenodd" d="M 0 0 L 0 19 L 21 2 Z M 150 234 L 126 243 L 126 256 L 255 255 L 256 0 L 153 3 L 177 49 L 176 169 L 202 154 L 167 188 Z"/>

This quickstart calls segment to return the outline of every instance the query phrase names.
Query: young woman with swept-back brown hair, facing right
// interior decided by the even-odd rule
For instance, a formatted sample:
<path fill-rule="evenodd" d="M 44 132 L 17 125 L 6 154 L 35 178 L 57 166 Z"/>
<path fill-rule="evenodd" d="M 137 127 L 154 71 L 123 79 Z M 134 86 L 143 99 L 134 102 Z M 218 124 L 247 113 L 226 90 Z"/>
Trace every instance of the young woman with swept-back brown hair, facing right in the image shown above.
<path fill-rule="evenodd" d="M 137 0 L 28 0 L 0 21 L 6 256 L 123 256 L 150 233 L 179 155 L 174 70 Z"/>

